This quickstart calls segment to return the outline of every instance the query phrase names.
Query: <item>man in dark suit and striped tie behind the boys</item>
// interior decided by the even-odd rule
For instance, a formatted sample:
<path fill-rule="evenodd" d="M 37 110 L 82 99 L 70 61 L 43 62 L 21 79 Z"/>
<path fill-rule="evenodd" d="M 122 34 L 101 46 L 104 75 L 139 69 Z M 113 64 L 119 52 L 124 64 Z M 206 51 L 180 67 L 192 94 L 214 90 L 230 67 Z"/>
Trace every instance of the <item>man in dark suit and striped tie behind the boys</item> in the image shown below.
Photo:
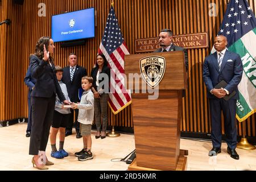
<path fill-rule="evenodd" d="M 81 88 L 81 80 L 83 76 L 87 75 L 86 69 L 77 65 L 77 55 L 75 53 L 69 54 L 69 66 L 63 68 L 62 81 L 66 84 L 68 89 L 68 97 L 71 102 L 80 102 L 79 89 Z M 75 127 L 76 127 L 76 138 L 81 138 L 79 122 L 77 122 L 78 109 L 75 109 Z M 66 127 L 66 137 L 72 134 L 74 110 L 71 109 L 71 117 Z"/>

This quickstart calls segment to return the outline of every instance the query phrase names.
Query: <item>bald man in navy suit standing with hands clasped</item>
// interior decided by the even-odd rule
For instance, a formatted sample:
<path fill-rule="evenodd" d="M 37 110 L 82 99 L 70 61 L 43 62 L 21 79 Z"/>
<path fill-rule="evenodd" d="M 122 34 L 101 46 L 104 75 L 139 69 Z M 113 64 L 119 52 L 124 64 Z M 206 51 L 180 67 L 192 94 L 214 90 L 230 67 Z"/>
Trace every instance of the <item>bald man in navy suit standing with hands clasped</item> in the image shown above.
<path fill-rule="evenodd" d="M 217 52 L 205 57 L 203 67 L 203 78 L 207 86 L 207 97 L 210 105 L 210 118 L 212 121 L 212 144 L 213 148 L 209 156 L 217 155 L 221 152 L 221 110 L 224 115 L 224 125 L 226 133 L 226 143 L 228 144 L 228 154 L 233 159 L 239 159 L 236 152 L 237 129 L 236 129 L 236 102 L 239 99 L 237 85 L 242 78 L 242 61 L 237 53 L 226 49 L 228 41 L 225 36 L 216 36 L 214 48 Z M 228 85 L 225 88 L 214 88 L 219 82 L 224 80 Z M 224 96 L 233 91 L 236 94 L 229 100 L 224 100 Z"/>

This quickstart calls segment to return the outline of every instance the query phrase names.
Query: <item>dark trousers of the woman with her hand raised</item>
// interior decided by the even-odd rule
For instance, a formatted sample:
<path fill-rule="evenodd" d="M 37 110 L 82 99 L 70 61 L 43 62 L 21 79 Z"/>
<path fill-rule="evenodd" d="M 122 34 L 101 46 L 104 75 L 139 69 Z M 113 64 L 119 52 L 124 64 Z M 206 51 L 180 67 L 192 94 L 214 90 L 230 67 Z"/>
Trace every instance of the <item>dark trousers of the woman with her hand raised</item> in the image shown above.
<path fill-rule="evenodd" d="M 38 151 L 46 151 L 55 107 L 55 94 L 49 98 L 31 97 L 31 106 L 32 129 L 29 154 L 38 155 Z"/>

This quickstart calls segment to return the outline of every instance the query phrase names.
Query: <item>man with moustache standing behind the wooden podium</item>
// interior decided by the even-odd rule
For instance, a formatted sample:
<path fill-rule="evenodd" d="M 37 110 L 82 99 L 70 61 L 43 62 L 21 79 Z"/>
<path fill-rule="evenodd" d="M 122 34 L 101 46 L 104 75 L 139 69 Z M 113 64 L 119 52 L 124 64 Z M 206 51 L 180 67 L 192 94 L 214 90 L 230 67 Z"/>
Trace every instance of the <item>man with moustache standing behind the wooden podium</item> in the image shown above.
<path fill-rule="evenodd" d="M 155 52 L 171 52 L 171 51 L 183 51 L 186 71 L 188 71 L 188 52 L 183 47 L 175 46 L 172 43 L 172 31 L 169 29 L 163 29 L 160 31 L 159 40 L 160 47 Z"/>

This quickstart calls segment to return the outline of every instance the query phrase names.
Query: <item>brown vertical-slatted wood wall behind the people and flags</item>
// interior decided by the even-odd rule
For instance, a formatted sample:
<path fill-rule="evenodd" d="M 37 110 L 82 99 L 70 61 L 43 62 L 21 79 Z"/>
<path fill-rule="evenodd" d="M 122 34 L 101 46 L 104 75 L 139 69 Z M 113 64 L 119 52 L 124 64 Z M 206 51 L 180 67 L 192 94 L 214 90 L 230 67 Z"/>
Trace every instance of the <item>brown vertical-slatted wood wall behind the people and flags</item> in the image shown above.
<path fill-rule="evenodd" d="M 249 0 L 253 11 L 256 1 Z M 39 17 L 39 3 L 45 3 L 46 16 Z M 0 120 L 27 117 L 27 87 L 23 78 L 28 67 L 28 57 L 34 52 L 36 41 L 51 35 L 51 15 L 95 7 L 96 36 L 86 39 L 85 46 L 60 48 L 55 43 L 55 63 L 68 65 L 68 55 L 76 52 L 79 64 L 88 72 L 92 69 L 100 45 L 111 1 L 106 0 L 25 0 L 24 5 L 14 5 L 2 0 L 0 20 L 10 18 L 10 26 L 0 26 Z M 209 16 L 210 3 L 216 5 L 217 16 Z M 183 100 L 181 131 L 210 133 L 209 107 L 202 70 L 204 57 L 209 55 L 213 38 L 226 10 L 228 0 L 115 0 L 115 14 L 130 53 L 135 52 L 135 39 L 156 37 L 163 28 L 175 35 L 208 32 L 209 48 L 189 49 L 189 81 Z M 110 113 L 110 110 L 109 110 Z M 133 127 L 131 106 L 117 115 L 109 114 L 109 125 Z M 255 116 L 246 120 L 246 135 L 255 137 Z M 224 127 L 223 127 L 224 130 Z M 238 123 L 241 135 L 241 123 Z"/>

